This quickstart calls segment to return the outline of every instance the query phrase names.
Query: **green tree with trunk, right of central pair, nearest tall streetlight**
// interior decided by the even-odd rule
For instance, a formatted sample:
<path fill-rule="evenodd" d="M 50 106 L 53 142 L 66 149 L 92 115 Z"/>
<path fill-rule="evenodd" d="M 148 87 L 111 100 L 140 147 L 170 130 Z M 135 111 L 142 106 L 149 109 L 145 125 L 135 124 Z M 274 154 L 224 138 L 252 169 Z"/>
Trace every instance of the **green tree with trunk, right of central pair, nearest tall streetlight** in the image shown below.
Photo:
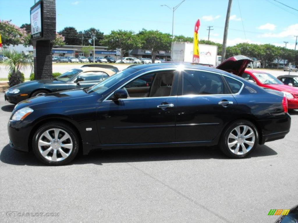
<path fill-rule="evenodd" d="M 169 51 L 171 49 L 172 38 L 168 33 L 143 29 L 138 36 L 140 37 L 142 48 L 151 51 L 152 63 L 155 62 L 158 51 Z"/>

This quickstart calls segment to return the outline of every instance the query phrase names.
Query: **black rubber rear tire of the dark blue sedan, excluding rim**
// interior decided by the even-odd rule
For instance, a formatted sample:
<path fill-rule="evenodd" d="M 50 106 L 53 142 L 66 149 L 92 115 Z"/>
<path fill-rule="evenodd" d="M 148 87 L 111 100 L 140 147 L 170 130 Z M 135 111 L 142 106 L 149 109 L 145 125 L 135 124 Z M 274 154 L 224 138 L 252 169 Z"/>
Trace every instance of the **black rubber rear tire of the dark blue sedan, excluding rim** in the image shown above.
<path fill-rule="evenodd" d="M 246 125 L 246 126 L 250 127 L 252 129 L 252 131 L 254 132 L 254 145 L 251 148 L 249 148 L 249 145 L 244 142 L 244 145 L 248 146 L 247 149 L 249 149 L 249 150 L 244 154 L 235 154 L 230 150 L 230 148 L 228 146 L 229 135 L 230 135 L 230 133 L 233 132 L 233 130 L 236 127 L 242 126 L 242 125 Z M 240 129 L 241 128 L 243 129 L 243 127 L 240 127 Z M 250 130 L 247 131 L 247 134 L 249 134 L 249 133 L 250 133 Z M 252 140 L 252 138 L 247 138 L 247 139 Z M 236 139 L 235 139 L 235 141 L 236 141 Z M 220 142 L 219 142 L 219 146 L 220 146 L 221 151 L 223 151 L 223 153 L 229 157 L 244 158 L 244 157 L 248 156 L 257 147 L 258 142 L 259 142 L 259 134 L 258 134 L 258 131 L 257 131 L 257 128 L 255 127 L 255 125 L 247 120 L 237 120 L 237 121 L 234 121 L 231 124 L 229 124 L 226 127 L 226 129 L 223 131 L 223 133 L 221 135 Z M 241 147 L 241 150 L 242 150 L 242 147 Z M 241 153 L 241 151 L 239 151 L 239 152 Z"/>

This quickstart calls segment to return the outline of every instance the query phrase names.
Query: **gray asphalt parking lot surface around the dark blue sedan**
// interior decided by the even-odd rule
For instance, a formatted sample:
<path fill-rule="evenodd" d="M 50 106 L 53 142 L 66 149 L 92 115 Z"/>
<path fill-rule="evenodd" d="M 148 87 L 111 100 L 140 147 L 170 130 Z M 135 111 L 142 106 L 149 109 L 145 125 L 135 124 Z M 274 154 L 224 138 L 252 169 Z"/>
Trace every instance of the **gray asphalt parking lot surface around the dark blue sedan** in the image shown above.
<path fill-rule="evenodd" d="M 3 93 L 0 106 L 0 222 L 274 222 L 270 209 L 298 204 L 298 111 L 285 139 L 245 159 L 217 147 L 125 149 L 48 167 L 10 147 L 14 106 Z"/>

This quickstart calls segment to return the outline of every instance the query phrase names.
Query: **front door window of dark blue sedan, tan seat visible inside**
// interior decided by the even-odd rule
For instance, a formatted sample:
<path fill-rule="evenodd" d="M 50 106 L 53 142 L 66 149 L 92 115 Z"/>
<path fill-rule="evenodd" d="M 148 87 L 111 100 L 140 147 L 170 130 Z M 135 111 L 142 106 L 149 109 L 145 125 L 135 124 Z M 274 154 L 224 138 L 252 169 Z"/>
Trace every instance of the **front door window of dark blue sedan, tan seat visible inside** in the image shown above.
<path fill-rule="evenodd" d="M 149 73 L 124 86 L 129 98 L 168 97 L 171 95 L 174 72 Z"/>

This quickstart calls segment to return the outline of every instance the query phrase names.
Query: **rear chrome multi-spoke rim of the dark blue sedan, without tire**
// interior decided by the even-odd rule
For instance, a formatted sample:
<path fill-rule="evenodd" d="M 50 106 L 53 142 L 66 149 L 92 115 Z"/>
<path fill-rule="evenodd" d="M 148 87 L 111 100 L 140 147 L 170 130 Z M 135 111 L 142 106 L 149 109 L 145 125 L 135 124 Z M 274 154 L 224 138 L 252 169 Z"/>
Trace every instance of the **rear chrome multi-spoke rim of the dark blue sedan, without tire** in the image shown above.
<path fill-rule="evenodd" d="M 237 126 L 230 132 L 228 137 L 228 147 L 236 155 L 243 155 L 249 152 L 254 143 L 254 131 L 247 125 Z"/>

